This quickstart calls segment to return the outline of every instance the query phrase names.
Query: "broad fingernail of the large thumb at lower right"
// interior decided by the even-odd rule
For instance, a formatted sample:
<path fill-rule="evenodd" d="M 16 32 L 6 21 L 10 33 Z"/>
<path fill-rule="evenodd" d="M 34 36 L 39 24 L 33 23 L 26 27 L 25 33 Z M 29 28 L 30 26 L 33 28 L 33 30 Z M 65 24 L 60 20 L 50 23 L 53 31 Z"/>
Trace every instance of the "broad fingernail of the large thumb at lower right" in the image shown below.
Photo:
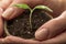
<path fill-rule="evenodd" d="M 47 29 L 42 29 L 35 33 L 35 38 L 43 41 L 47 38 L 47 35 L 48 35 Z"/>

